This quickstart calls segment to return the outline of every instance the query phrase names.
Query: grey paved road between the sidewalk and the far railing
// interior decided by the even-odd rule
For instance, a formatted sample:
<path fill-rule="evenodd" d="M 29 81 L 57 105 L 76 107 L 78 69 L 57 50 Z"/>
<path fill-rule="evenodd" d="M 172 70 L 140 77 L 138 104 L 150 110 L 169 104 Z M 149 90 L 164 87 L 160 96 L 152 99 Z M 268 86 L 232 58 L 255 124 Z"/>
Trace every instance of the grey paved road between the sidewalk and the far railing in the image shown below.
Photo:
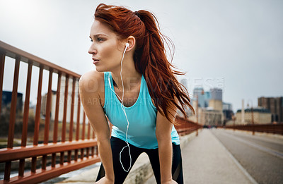
<path fill-rule="evenodd" d="M 258 183 L 283 183 L 283 139 L 233 130 L 212 130 Z"/>

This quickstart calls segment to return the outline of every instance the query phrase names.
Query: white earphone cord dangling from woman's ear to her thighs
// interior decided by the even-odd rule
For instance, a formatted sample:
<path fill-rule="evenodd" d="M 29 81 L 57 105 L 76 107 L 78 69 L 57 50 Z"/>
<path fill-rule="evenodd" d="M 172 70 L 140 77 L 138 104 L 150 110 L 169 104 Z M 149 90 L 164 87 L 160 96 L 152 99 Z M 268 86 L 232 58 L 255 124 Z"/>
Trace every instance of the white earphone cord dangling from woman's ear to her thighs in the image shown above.
<path fill-rule="evenodd" d="M 124 103 L 123 103 L 123 99 L 124 99 L 124 82 L 123 82 L 123 79 L 122 79 L 122 68 L 123 68 L 123 64 L 122 64 L 122 61 L 124 59 L 124 55 L 125 55 L 125 52 L 127 50 L 127 47 L 129 47 L 129 44 L 127 43 L 126 44 L 126 48 L 123 52 L 123 55 L 122 55 L 122 60 L 121 60 L 121 71 L 120 71 L 120 77 L 121 77 L 121 80 L 122 80 L 122 99 L 119 97 L 119 95 L 114 91 L 112 90 L 112 87 L 111 87 L 111 82 L 110 82 L 110 78 L 108 78 L 109 80 L 109 85 L 110 85 L 110 89 L 112 90 L 112 92 L 114 92 L 117 97 L 120 99 L 121 101 L 121 108 L 122 108 L 122 111 L 124 112 L 125 116 L 126 116 L 126 119 L 127 119 L 127 130 L 126 130 L 126 143 L 127 143 L 127 146 L 125 147 L 128 147 L 129 148 L 129 142 L 128 142 L 128 130 L 129 130 L 129 120 L 128 120 L 128 117 L 127 117 L 127 114 L 126 114 L 126 111 L 125 111 L 125 106 L 124 106 Z M 131 157 L 131 150 L 129 149 L 129 168 L 126 170 L 122 164 L 122 159 L 121 159 L 121 154 L 123 152 L 123 150 L 125 149 L 125 147 L 122 148 L 121 152 L 120 152 L 120 163 L 122 165 L 122 168 L 124 169 L 124 171 L 126 172 L 129 172 L 129 169 L 131 168 L 131 165 L 132 165 L 132 157 Z"/>

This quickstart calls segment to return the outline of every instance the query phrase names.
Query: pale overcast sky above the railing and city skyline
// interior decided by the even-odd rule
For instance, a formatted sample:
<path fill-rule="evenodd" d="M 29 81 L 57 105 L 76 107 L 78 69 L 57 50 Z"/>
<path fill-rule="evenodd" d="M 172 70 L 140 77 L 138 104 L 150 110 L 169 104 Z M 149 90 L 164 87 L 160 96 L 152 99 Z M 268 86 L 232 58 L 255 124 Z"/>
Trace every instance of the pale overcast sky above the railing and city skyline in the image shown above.
<path fill-rule="evenodd" d="M 191 94 L 195 87 L 220 87 L 234 111 L 242 99 L 257 106 L 258 97 L 283 96 L 282 0 L 0 0 L 0 40 L 79 74 L 95 70 L 88 36 L 100 2 L 156 15 L 175 44 L 173 64 L 187 73 L 180 79 Z M 11 90 L 13 62 L 5 64 L 4 90 Z"/>

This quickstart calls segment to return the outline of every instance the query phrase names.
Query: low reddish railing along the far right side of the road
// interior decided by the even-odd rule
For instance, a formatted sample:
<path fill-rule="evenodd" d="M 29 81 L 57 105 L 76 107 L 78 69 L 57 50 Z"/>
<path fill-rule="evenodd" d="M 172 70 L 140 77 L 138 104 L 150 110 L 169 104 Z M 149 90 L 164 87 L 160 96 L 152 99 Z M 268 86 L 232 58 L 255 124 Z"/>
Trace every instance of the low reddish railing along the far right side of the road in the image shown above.
<path fill-rule="evenodd" d="M 255 124 L 255 125 L 226 125 L 221 128 L 230 128 L 234 130 L 247 130 L 260 133 L 274 133 L 283 135 L 283 124 Z"/>

